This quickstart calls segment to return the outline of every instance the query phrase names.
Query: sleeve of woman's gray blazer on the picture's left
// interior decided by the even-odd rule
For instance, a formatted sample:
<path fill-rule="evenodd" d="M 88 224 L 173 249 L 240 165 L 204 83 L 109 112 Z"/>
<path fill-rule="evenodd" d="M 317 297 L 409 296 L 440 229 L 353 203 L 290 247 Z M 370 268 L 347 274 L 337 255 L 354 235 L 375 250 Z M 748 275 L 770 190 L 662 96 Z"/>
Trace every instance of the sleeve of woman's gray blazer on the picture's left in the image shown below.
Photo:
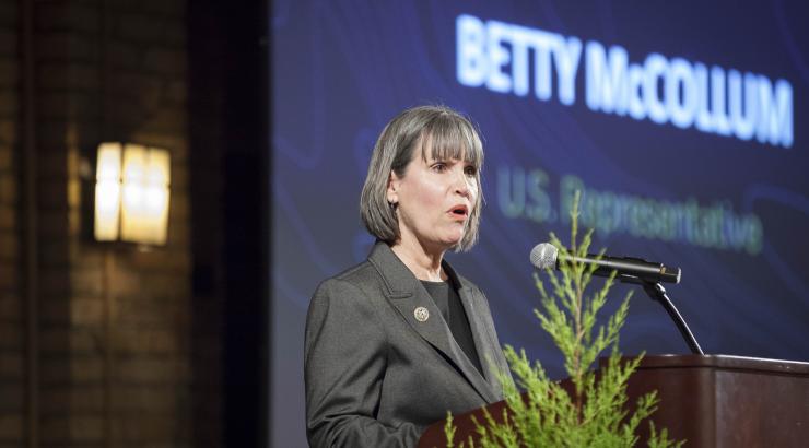
<path fill-rule="evenodd" d="M 375 418 L 387 365 L 377 310 L 354 285 L 328 280 L 315 292 L 304 347 L 306 436 L 312 447 L 413 447 L 415 425 Z"/>

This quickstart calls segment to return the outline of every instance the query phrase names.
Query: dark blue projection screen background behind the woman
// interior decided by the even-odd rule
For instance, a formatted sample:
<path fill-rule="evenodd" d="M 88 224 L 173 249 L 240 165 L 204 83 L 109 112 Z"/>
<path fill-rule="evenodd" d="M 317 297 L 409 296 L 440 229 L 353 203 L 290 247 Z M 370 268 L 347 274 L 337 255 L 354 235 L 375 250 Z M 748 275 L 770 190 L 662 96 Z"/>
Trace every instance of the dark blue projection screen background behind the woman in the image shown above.
<path fill-rule="evenodd" d="M 657 52 L 786 80 L 794 141 L 784 148 L 594 111 L 585 102 L 584 50 L 572 105 L 555 94 L 540 101 L 462 85 L 456 39 L 461 14 L 618 45 L 633 63 Z M 669 296 L 706 353 L 809 361 L 807 19 L 800 1 L 274 1 L 268 150 L 272 445 L 306 445 L 303 334 L 309 297 L 320 281 L 365 259 L 373 238 L 361 225 L 359 196 L 371 151 L 389 119 L 421 104 L 469 115 L 484 140 L 480 243 L 447 257 L 486 293 L 502 343 L 525 347 L 552 376 L 564 376 L 532 313 L 539 295 L 528 254 L 549 232 L 567 241 L 562 186 L 576 178 L 585 186 L 584 201 L 590 191 L 602 199 L 717 208 L 725 222 L 755 216 L 761 236 L 751 250 L 626 228 L 597 231 L 594 250 L 681 268 L 682 281 L 667 287 Z M 615 286 L 605 313 L 630 288 Z M 664 309 L 640 290 L 621 350 L 688 353 Z"/>

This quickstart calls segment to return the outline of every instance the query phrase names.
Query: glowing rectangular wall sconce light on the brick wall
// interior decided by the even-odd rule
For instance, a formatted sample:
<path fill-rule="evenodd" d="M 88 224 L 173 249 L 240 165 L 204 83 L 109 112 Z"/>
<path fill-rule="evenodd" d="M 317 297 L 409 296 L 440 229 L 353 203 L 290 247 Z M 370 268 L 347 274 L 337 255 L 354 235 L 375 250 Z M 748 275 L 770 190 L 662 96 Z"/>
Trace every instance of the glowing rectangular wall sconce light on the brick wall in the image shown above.
<path fill-rule="evenodd" d="M 131 143 L 98 145 L 95 239 L 165 245 L 169 185 L 168 151 Z"/>

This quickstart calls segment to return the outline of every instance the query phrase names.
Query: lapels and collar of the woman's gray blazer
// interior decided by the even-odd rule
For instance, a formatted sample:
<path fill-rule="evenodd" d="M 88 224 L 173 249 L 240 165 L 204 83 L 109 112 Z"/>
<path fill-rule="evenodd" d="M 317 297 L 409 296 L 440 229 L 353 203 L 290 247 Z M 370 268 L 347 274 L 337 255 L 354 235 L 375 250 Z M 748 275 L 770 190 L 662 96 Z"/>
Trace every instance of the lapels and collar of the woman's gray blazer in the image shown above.
<path fill-rule="evenodd" d="M 496 347 L 492 346 L 493 339 L 484 322 L 481 321 L 481 316 L 479 316 L 478 297 L 473 297 L 476 294 L 473 294 L 466 280 L 458 276 L 446 260 L 442 261 L 444 271 L 458 285 L 458 295 L 467 313 L 472 339 L 480 356 L 480 363 L 483 366 L 482 374 L 478 372 L 455 341 L 449 326 L 424 286 L 387 244 L 377 241 L 371 250 L 368 261 L 376 268 L 385 282 L 387 288 L 385 295 L 388 302 L 399 310 L 399 314 L 410 327 L 452 359 L 455 367 L 460 370 L 467 381 L 484 400 L 490 403 L 501 400 L 500 382 L 495 378 L 493 367 L 490 365 L 493 362 L 493 350 L 496 350 Z M 415 309 L 421 307 L 426 308 L 429 313 L 429 318 L 424 321 L 415 318 Z M 489 381 L 482 375 L 485 375 Z"/>

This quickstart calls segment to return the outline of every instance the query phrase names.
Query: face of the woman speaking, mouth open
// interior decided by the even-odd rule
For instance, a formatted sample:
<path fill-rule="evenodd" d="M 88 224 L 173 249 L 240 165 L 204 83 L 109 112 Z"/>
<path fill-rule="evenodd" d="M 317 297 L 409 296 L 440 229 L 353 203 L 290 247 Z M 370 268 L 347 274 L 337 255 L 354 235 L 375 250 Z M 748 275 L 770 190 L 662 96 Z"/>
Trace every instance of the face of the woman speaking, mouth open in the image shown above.
<path fill-rule="evenodd" d="M 429 148 L 422 151 L 431 153 Z M 404 175 L 391 173 L 388 182 L 387 199 L 397 204 L 400 243 L 417 243 L 430 251 L 457 245 L 478 194 L 474 165 L 457 158 L 423 157 L 413 151 Z"/>

